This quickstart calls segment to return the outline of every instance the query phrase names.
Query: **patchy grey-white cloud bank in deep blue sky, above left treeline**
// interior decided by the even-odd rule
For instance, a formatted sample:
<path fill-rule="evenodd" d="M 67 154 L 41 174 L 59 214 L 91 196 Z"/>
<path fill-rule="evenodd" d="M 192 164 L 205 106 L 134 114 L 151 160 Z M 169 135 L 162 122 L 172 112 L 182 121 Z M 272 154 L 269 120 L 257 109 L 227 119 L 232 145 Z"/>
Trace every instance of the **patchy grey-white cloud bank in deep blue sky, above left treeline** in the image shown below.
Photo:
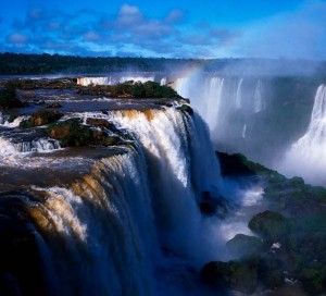
<path fill-rule="evenodd" d="M 228 46 L 236 38 L 230 29 L 188 23 L 181 10 L 174 9 L 154 18 L 130 4 L 121 5 L 115 15 L 92 10 L 68 14 L 37 7 L 13 22 L 7 35 L 5 48 L 21 47 L 26 52 L 166 58 L 212 58 L 212 47 Z"/>

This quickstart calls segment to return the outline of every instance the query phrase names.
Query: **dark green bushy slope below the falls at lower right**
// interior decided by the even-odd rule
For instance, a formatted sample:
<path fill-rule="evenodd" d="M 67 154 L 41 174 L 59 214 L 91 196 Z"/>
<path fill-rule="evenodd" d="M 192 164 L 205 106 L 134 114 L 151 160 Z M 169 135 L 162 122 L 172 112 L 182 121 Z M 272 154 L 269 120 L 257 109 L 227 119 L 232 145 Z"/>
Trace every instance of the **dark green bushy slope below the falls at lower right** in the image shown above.
<path fill-rule="evenodd" d="M 299 281 L 310 295 L 325 293 L 326 189 L 308 185 L 301 177 L 286 178 L 241 155 L 221 155 L 222 164 L 233 165 L 231 170 L 222 170 L 223 173 L 237 176 L 238 166 L 241 176 L 255 175 L 253 180 L 264 184 L 264 202 L 268 210 L 254 214 L 248 225 L 260 237 L 236 235 L 227 247 L 238 261 L 208 263 L 202 269 L 204 281 L 217 286 L 218 291 L 231 288 L 253 293 L 259 285 L 281 287 L 288 278 Z M 234 272 L 252 260 L 258 263 L 241 271 L 246 272 L 243 276 L 249 276 L 250 289 L 247 283 L 235 285 L 238 278 Z"/>

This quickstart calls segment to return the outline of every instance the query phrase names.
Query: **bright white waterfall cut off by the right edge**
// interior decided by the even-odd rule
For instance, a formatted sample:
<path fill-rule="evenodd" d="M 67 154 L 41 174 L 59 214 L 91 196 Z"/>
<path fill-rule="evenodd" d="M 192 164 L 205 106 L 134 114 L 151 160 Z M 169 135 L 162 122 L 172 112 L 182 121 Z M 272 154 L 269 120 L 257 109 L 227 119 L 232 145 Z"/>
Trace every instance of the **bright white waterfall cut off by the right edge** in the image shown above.
<path fill-rule="evenodd" d="M 277 169 L 288 176 L 301 175 L 312 184 L 326 184 L 326 85 L 316 91 L 306 133 L 291 146 Z"/>

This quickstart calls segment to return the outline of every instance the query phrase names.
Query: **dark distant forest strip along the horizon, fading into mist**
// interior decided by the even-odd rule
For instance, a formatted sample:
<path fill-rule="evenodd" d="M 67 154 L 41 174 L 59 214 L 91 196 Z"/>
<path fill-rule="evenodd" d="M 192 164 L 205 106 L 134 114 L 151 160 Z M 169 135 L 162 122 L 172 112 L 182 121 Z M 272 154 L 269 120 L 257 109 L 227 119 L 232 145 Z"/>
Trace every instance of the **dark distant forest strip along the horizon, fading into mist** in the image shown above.
<path fill-rule="evenodd" d="M 205 60 L 164 58 L 83 58 L 60 54 L 0 53 L 0 75 L 113 73 L 135 69 L 141 72 L 163 72 L 166 69 L 203 66 Z"/>

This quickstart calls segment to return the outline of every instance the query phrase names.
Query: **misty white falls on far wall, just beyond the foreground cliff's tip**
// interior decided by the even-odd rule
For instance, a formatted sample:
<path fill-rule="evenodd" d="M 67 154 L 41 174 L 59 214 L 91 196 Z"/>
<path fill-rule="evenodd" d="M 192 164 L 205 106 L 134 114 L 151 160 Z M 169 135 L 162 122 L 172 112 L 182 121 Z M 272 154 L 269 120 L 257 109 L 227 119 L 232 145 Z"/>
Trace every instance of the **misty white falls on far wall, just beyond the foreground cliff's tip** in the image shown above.
<path fill-rule="evenodd" d="M 235 139 L 235 145 L 240 145 L 243 125 L 266 109 L 261 79 L 195 75 L 178 78 L 174 88 L 190 98 L 191 106 L 208 123 L 211 137 L 226 145 Z"/>

